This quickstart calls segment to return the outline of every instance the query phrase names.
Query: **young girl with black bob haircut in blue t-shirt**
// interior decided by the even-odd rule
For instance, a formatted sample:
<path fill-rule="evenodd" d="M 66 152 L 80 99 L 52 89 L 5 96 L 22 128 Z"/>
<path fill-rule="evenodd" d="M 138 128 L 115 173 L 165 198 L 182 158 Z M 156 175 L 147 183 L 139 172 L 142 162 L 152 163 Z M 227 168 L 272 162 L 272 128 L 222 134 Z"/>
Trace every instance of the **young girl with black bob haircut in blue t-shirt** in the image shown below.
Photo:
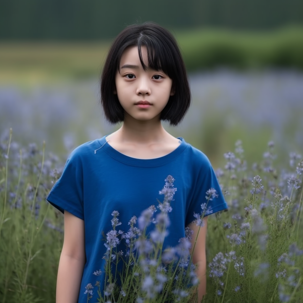
<path fill-rule="evenodd" d="M 139 217 L 157 199 L 163 201 L 159 190 L 168 176 L 174 178 L 176 191 L 164 249 L 176 246 L 187 226 L 195 240 L 199 227 L 194 213 L 201 212 L 208 189 L 215 189 L 218 197 L 209 201 L 205 215 L 227 208 L 208 158 L 161 125 L 161 120 L 178 125 L 190 99 L 178 45 L 167 30 L 144 23 L 128 26 L 117 36 L 102 72 L 101 102 L 107 120 L 123 124 L 76 148 L 47 198 L 64 212 L 57 303 L 87 302 L 88 283 L 104 285 L 102 233 L 112 229 L 112 212 L 120 214 L 119 229 L 128 230 L 133 216 Z M 206 291 L 206 228 L 205 217 L 193 253 L 199 302 Z M 97 289 L 91 293 L 96 302 Z"/>

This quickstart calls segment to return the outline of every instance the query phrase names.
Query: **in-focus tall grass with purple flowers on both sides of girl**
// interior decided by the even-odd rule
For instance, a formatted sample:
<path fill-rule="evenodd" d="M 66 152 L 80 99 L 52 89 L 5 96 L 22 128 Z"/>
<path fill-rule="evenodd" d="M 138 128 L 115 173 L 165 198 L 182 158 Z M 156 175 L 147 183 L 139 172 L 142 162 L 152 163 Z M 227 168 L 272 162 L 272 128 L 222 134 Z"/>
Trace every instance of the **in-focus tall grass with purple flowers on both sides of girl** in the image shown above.
<path fill-rule="evenodd" d="M 241 142 L 224 156 L 217 176 L 229 210 L 208 219 L 204 302 L 303 301 L 302 156 L 279 159 L 273 142 L 252 167 Z M 0 142 L 3 303 L 55 301 L 63 216 L 45 197 L 61 168 L 43 145 L 19 146 L 12 132 Z"/>

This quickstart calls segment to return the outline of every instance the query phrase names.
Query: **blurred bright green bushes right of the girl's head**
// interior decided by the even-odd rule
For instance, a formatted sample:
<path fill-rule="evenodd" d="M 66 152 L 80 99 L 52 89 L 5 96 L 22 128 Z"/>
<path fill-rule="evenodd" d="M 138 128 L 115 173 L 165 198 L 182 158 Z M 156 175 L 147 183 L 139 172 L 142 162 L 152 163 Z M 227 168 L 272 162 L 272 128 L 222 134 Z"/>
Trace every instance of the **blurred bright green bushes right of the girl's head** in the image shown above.
<path fill-rule="evenodd" d="M 196 30 L 177 38 L 188 71 L 216 66 L 303 69 L 303 28 L 258 33 Z"/>

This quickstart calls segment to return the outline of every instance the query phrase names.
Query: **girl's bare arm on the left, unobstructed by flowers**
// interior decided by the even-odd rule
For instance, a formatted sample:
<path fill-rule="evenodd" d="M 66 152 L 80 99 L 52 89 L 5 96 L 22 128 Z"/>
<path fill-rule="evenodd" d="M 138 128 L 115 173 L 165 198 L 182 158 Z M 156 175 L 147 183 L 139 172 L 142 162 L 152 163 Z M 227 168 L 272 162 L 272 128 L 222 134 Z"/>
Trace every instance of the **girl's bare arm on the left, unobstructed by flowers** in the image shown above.
<path fill-rule="evenodd" d="M 64 241 L 58 268 L 56 303 L 78 302 L 84 265 L 84 221 L 64 211 Z"/>

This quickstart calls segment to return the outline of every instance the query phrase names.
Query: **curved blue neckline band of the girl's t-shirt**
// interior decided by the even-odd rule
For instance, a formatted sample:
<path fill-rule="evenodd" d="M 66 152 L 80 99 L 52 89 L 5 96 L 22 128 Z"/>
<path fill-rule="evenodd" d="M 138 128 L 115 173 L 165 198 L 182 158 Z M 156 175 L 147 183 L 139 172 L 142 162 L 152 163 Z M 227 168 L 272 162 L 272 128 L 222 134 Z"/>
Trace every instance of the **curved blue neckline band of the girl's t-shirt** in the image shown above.
<path fill-rule="evenodd" d="M 180 145 L 171 151 L 169 154 L 159 157 L 159 158 L 152 158 L 152 159 L 139 159 L 139 158 L 132 158 L 127 155 L 122 154 L 121 152 L 117 151 L 115 148 L 113 148 L 111 145 L 108 144 L 106 141 L 106 137 L 108 135 L 105 135 L 101 139 L 98 139 L 100 146 L 102 147 L 102 150 L 105 151 L 108 155 L 110 155 L 112 158 L 115 158 L 116 160 L 123 162 L 128 165 L 134 165 L 134 166 L 159 166 L 164 165 L 172 160 L 174 160 L 176 157 L 178 157 L 187 147 L 187 143 L 182 137 L 178 137 L 178 139 L 181 141 Z"/>

